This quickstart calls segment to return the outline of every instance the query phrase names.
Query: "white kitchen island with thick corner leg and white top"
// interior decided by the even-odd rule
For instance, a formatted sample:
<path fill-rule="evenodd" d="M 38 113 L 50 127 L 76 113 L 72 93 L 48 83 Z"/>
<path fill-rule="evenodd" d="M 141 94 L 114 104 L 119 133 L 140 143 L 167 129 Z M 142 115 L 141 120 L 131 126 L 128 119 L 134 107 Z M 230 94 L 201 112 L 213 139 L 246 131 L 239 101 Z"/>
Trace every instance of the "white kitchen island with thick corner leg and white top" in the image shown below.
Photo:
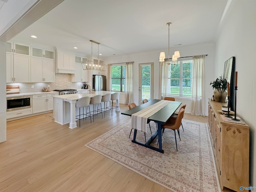
<path fill-rule="evenodd" d="M 89 94 L 66 94 L 54 96 L 54 106 L 53 106 L 53 117 L 54 121 L 59 124 L 69 123 L 69 128 L 76 128 L 76 114 L 79 114 L 79 109 L 76 109 L 76 102 L 82 97 L 89 96 L 90 98 L 96 95 L 102 95 L 108 93 L 116 93 L 113 91 L 96 91 L 95 93 Z M 118 110 L 116 108 L 116 110 Z"/>

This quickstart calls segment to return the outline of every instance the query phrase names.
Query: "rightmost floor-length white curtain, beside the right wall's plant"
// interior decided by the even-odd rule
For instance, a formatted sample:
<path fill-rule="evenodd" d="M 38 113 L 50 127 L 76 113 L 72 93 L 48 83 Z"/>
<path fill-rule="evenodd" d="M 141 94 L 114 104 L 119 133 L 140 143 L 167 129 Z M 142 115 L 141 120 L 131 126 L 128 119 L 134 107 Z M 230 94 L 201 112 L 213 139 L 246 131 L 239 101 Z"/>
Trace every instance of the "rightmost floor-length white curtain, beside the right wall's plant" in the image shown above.
<path fill-rule="evenodd" d="M 205 116 L 205 55 L 193 56 L 192 106 L 191 114 Z"/>

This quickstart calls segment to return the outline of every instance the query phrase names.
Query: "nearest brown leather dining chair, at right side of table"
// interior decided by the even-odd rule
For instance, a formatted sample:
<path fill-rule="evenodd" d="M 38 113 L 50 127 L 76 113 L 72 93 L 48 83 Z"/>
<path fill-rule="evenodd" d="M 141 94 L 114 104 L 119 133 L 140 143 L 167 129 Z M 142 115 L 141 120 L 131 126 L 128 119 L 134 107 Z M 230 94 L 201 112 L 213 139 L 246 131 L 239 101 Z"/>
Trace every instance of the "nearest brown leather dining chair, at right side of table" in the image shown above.
<path fill-rule="evenodd" d="M 180 138 L 180 126 L 181 126 L 181 120 L 183 118 L 183 115 L 184 115 L 184 108 L 181 108 L 176 119 L 170 118 L 165 124 L 162 124 L 163 134 L 164 134 L 165 128 L 174 130 L 177 151 L 178 151 L 178 147 L 177 147 L 177 140 L 176 140 L 176 130 L 177 130 L 179 138 Z"/>

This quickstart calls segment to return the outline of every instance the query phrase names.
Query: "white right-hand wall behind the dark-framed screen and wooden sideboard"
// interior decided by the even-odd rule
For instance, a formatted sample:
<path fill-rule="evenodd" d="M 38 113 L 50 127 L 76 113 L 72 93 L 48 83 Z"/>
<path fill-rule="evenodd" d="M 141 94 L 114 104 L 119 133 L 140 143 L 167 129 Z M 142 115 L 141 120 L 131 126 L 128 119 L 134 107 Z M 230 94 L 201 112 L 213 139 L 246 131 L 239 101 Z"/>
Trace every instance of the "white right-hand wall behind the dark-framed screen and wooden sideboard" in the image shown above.
<path fill-rule="evenodd" d="M 223 73 L 224 62 L 236 57 L 238 72 L 236 112 L 250 126 L 250 186 L 256 186 L 256 1 L 232 1 L 230 13 L 216 42 L 216 70 Z"/>

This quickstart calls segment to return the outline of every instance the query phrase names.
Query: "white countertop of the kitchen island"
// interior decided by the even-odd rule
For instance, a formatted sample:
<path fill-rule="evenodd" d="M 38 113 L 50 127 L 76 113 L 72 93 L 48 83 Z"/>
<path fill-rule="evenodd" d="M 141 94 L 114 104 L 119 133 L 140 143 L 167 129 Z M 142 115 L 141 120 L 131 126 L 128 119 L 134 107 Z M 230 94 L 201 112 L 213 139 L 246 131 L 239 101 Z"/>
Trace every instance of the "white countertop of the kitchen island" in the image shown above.
<path fill-rule="evenodd" d="M 116 93 L 116 92 L 114 92 L 114 91 L 96 91 L 95 93 L 85 93 L 85 94 L 78 94 L 78 93 L 76 93 L 76 94 L 66 94 L 66 95 L 55 95 L 53 97 L 55 97 L 55 98 L 62 98 L 64 100 L 70 100 L 71 101 L 71 100 L 78 100 L 78 99 L 80 99 L 82 97 L 87 97 L 87 96 L 89 96 L 90 98 L 92 98 L 92 97 L 94 97 L 96 95 L 104 96 L 104 95 L 106 95 L 108 93 L 113 94 L 113 93 Z"/>

